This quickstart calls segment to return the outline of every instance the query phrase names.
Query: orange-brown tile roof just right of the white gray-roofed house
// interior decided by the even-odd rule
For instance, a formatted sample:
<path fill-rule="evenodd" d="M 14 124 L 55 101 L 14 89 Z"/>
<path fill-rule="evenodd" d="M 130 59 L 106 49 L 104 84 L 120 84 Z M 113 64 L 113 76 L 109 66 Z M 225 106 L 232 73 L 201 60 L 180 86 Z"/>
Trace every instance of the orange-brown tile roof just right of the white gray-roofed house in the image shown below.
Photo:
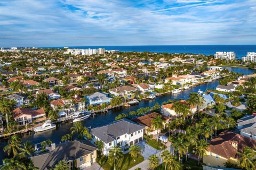
<path fill-rule="evenodd" d="M 134 118 L 132 121 L 136 122 L 136 123 L 143 124 L 148 127 L 151 127 L 151 120 L 154 120 L 155 117 L 158 115 L 162 116 L 162 120 L 164 120 L 164 121 L 171 120 L 170 117 L 153 112 L 153 113 L 147 114 L 145 116 L 140 116 L 140 117 Z"/>

